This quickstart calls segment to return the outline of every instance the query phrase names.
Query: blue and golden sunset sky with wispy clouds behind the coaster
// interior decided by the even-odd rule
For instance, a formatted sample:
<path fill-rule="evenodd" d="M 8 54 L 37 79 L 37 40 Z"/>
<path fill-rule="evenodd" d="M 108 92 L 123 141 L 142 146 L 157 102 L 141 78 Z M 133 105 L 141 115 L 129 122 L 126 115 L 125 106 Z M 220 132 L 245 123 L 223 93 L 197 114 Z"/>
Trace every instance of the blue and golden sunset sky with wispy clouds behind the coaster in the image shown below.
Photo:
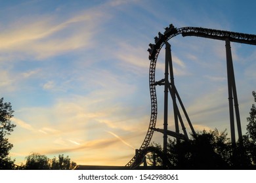
<path fill-rule="evenodd" d="M 0 0 L 0 97 L 16 124 L 9 155 L 18 165 L 32 152 L 64 154 L 78 165 L 126 165 L 150 122 L 147 50 L 158 32 L 173 24 L 256 34 L 255 17 L 255 1 L 246 0 Z M 229 135 L 224 41 L 178 35 L 169 43 L 194 129 Z M 231 47 L 245 134 L 256 46 Z M 164 78 L 164 50 L 156 80 Z M 156 127 L 163 128 L 163 86 L 157 95 Z M 171 105 L 168 123 L 174 131 Z M 155 132 L 152 142 L 162 144 L 162 136 Z"/>

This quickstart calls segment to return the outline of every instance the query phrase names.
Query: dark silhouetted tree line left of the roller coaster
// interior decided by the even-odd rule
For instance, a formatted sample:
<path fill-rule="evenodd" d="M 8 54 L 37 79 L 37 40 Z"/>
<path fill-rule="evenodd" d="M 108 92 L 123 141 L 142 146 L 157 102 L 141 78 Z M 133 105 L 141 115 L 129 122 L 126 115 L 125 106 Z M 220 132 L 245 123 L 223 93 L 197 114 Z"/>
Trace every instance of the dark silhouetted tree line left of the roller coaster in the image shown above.
<path fill-rule="evenodd" d="M 76 163 L 68 156 L 59 154 L 58 158 L 47 158 L 45 155 L 31 153 L 26 159 L 26 163 L 15 165 L 15 159 L 9 157 L 9 152 L 13 144 L 7 138 L 11 135 L 16 125 L 11 123 L 13 117 L 11 103 L 5 103 L 3 97 L 0 99 L 0 170 L 1 169 L 28 169 L 28 170 L 68 170 L 74 169 Z"/>

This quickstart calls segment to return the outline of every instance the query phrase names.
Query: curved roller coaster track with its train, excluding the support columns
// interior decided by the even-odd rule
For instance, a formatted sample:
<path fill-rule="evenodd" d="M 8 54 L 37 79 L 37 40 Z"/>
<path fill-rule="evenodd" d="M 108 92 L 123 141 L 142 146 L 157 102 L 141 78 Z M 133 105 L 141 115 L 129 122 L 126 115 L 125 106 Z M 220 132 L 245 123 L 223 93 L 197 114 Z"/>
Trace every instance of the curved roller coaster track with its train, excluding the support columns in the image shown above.
<path fill-rule="evenodd" d="M 217 29 L 207 29 L 202 27 L 181 27 L 179 29 L 175 28 L 173 24 L 170 24 L 169 27 L 165 28 L 165 32 L 158 33 L 158 37 L 155 37 L 155 44 L 149 44 L 150 48 L 148 49 L 149 59 L 150 59 L 150 70 L 149 70 L 149 86 L 150 86 L 150 99 L 151 99 L 151 116 L 150 116 L 150 124 L 148 127 L 148 131 L 146 133 L 146 137 L 142 142 L 142 145 L 139 148 L 139 152 L 144 152 L 150 141 L 152 139 L 154 129 L 156 126 L 156 118 L 158 114 L 158 103 L 156 97 L 156 61 L 158 59 L 158 54 L 160 53 L 161 48 L 165 44 L 165 42 L 169 41 L 169 39 L 182 35 L 186 36 L 196 36 L 196 37 L 205 37 L 209 39 L 217 39 L 231 42 L 240 42 L 244 44 L 253 44 L 256 45 L 256 35 L 246 34 L 246 33 L 236 33 L 231 31 L 222 31 Z M 132 167 L 135 163 L 137 156 L 135 155 L 126 166 Z"/>

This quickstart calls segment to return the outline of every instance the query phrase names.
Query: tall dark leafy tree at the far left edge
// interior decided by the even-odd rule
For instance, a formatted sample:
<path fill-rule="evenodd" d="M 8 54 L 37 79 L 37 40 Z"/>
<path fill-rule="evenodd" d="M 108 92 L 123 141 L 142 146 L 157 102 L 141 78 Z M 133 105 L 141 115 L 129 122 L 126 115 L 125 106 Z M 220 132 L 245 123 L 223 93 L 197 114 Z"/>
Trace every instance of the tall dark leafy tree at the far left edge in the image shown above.
<path fill-rule="evenodd" d="M 9 151 L 13 145 L 8 141 L 7 135 L 11 135 L 16 125 L 11 123 L 13 117 L 11 103 L 4 103 L 3 98 L 0 99 L 0 169 L 11 169 L 15 160 L 9 158 Z"/>

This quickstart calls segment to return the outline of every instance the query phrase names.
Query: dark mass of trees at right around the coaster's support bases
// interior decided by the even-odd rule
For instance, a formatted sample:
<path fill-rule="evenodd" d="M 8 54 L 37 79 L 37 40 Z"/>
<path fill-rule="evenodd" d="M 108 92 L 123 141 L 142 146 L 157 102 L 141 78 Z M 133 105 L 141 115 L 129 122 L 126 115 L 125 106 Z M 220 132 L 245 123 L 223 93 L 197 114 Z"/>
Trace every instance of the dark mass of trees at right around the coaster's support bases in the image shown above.
<path fill-rule="evenodd" d="M 252 92 L 256 102 L 256 93 Z M 247 133 L 232 144 L 226 131 L 200 131 L 189 141 L 169 139 L 166 169 L 256 169 L 256 107 L 247 118 Z M 152 146 L 162 150 L 160 144 Z M 163 166 L 156 154 L 148 155 L 150 165 Z"/>

